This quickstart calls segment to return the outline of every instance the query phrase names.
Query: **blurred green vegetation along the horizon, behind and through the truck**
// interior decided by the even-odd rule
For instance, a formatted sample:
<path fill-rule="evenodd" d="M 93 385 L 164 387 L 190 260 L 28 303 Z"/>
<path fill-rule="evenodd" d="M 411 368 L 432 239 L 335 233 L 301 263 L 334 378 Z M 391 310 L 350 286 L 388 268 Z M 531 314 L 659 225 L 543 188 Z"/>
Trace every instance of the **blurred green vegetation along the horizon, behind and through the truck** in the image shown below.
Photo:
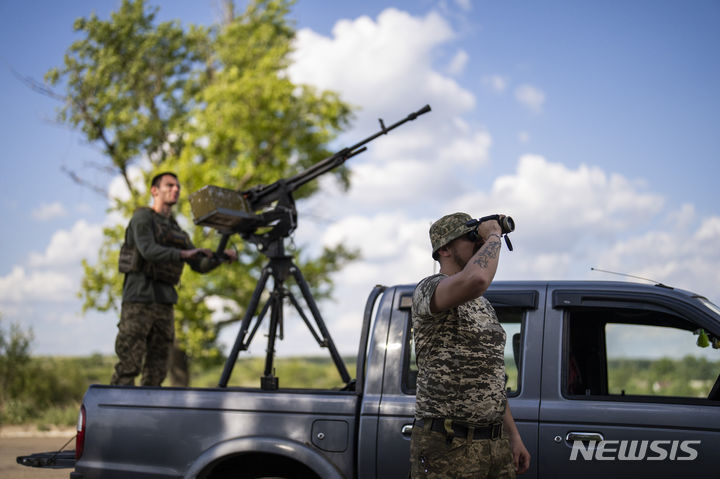
<path fill-rule="evenodd" d="M 0 426 L 3 424 L 73 425 L 83 394 L 91 384 L 107 384 L 114 356 L 30 357 L 29 337 L 0 328 Z M 355 358 L 344 358 L 355 377 Z M 517 370 L 506 358 L 508 386 L 517 388 Z M 259 387 L 264 357 L 238 360 L 229 386 Z M 222 363 L 196 362 L 193 387 L 217 385 Z M 720 360 L 687 356 L 681 359 L 611 359 L 611 394 L 706 397 L 720 373 Z M 277 358 L 275 374 L 281 388 L 338 389 L 343 386 L 330 357 Z"/>

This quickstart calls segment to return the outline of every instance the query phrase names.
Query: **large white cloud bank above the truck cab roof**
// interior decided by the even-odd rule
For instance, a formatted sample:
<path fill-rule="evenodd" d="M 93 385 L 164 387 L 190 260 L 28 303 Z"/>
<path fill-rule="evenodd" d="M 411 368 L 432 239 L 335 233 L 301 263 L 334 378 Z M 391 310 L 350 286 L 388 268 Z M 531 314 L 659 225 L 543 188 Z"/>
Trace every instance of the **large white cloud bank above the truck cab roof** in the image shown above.
<path fill-rule="evenodd" d="M 642 181 L 525 155 L 488 191 L 449 202 L 457 210 L 515 219 L 515 251 L 504 249 L 498 279 L 608 279 L 594 266 L 720 297 L 720 217 L 698 223 L 690 205 L 668 211 Z"/>

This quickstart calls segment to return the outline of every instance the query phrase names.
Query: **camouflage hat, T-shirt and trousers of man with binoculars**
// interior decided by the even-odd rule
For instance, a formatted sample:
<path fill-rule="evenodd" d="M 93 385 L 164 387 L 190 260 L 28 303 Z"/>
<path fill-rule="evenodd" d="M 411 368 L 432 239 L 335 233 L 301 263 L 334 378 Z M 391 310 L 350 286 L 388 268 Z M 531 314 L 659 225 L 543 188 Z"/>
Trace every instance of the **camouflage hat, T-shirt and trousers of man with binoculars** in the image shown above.
<path fill-rule="evenodd" d="M 443 220 L 431 228 L 433 253 L 468 232 L 462 225 L 469 215 L 445 217 L 446 225 L 448 219 L 454 231 L 438 231 L 437 223 L 442 226 Z M 424 424 L 413 428 L 412 477 L 514 478 L 513 455 L 506 437 L 472 439 L 457 437 L 448 429 L 430 430 L 432 419 L 450 420 L 446 422 L 449 429 L 453 423 L 468 428 L 502 424 L 507 403 L 505 331 L 495 310 L 481 296 L 431 313 L 430 300 L 446 277 L 437 274 L 423 279 L 413 295 L 418 364 L 415 418 Z"/>

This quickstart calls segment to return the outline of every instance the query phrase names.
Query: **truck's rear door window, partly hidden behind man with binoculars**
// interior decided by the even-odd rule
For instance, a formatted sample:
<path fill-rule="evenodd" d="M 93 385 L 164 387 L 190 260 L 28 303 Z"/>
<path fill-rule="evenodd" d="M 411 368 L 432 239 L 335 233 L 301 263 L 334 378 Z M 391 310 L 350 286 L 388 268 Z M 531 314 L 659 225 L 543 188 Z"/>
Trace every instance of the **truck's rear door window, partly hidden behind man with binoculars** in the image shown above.
<path fill-rule="evenodd" d="M 522 367 L 523 344 L 523 318 L 525 311 L 522 308 L 495 308 L 500 324 L 505 330 L 505 375 L 507 379 L 508 396 L 517 396 L 520 393 L 520 371 Z M 403 384 L 405 394 L 415 394 L 417 382 L 417 362 L 415 357 L 415 342 L 412 335 L 412 322 L 408 321 L 408 331 L 405 334 L 405 357 L 403 360 Z"/>

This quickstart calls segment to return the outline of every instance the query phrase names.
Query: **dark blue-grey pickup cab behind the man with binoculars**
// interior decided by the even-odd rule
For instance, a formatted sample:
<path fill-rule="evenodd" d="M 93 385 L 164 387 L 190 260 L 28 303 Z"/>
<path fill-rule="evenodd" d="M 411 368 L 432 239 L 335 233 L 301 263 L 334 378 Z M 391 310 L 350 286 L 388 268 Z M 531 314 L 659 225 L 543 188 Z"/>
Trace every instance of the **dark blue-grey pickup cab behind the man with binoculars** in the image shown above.
<path fill-rule="evenodd" d="M 414 416 L 413 289 L 389 290 L 379 305 L 378 316 L 392 312 L 390 321 L 376 322 L 369 353 L 385 364 L 381 393 L 365 398 L 361 415 L 361 433 L 376 437 L 377 448 L 360 449 L 358 477 L 408 474 L 398 458 L 409 455 Z M 689 292 L 625 282 L 498 281 L 485 296 L 507 333 L 508 401 L 532 456 L 521 477 L 716 474 L 716 306 Z M 703 334 L 714 344 L 700 347 Z M 673 368 L 682 371 L 670 374 Z"/>

